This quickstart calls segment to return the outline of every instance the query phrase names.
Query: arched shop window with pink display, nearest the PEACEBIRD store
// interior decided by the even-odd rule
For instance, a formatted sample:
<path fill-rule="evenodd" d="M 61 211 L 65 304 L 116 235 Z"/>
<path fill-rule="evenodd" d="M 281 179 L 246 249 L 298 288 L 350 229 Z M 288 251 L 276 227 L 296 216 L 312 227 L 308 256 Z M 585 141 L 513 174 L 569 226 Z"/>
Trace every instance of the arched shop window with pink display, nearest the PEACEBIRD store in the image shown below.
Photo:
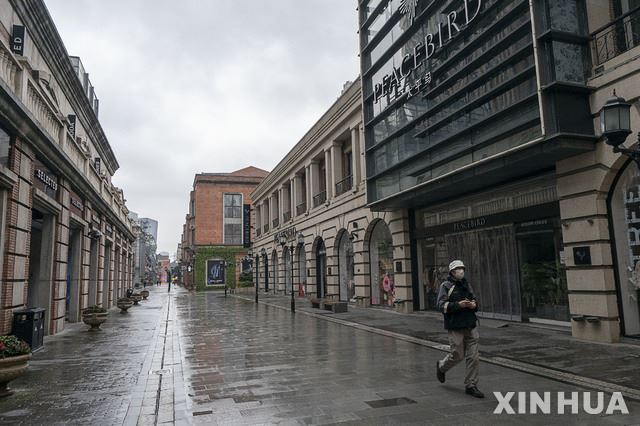
<path fill-rule="evenodd" d="M 383 221 L 379 221 L 373 228 L 369 256 L 371 262 L 371 304 L 393 306 L 395 300 L 393 241 L 389 227 Z"/>

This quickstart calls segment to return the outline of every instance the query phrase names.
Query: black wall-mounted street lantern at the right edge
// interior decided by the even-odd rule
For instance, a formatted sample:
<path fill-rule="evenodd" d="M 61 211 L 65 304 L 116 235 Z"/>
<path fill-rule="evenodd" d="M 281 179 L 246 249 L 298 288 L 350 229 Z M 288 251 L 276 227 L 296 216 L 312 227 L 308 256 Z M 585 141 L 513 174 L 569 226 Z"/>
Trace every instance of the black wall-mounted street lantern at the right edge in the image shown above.
<path fill-rule="evenodd" d="M 640 168 L 640 132 L 638 132 L 639 147 L 629 149 L 622 145 L 631 134 L 631 104 L 624 98 L 618 97 L 615 90 L 613 97 L 608 99 L 600 110 L 600 127 L 605 142 L 613 147 L 613 152 L 631 157 Z"/>

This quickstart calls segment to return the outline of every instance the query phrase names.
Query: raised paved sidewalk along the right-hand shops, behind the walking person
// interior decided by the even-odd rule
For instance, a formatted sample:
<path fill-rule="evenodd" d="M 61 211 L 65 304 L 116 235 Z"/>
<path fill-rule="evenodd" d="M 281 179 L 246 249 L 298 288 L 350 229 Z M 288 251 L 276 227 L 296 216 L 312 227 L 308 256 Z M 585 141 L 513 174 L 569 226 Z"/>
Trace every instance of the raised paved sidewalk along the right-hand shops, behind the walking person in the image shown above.
<path fill-rule="evenodd" d="M 255 303 L 255 293 L 235 294 Z M 291 296 L 259 294 L 259 302 L 289 310 Z M 448 350 L 442 315 L 438 312 L 401 314 L 384 308 L 358 308 L 334 314 L 314 309 L 296 297 L 296 312 L 385 334 L 437 350 Z M 600 391 L 622 392 L 640 401 L 640 341 L 585 342 L 562 327 L 547 327 L 480 319 L 483 361 Z"/>

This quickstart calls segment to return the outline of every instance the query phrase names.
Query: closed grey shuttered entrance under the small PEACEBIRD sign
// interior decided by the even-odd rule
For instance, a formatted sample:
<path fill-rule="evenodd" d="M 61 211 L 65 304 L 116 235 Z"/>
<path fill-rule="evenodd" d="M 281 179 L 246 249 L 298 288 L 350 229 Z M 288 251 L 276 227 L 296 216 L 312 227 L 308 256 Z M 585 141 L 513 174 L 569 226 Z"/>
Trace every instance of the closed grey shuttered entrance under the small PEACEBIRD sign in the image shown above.
<path fill-rule="evenodd" d="M 448 258 L 467 266 L 479 315 L 521 321 L 518 252 L 513 226 L 445 236 Z"/>

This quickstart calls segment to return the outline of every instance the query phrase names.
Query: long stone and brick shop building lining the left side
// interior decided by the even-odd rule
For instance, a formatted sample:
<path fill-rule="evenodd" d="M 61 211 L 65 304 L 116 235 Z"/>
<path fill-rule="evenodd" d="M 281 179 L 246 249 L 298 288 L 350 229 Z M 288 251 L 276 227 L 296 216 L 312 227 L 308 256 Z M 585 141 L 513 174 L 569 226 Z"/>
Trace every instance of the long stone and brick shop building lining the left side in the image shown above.
<path fill-rule="evenodd" d="M 95 90 L 43 1 L 0 4 L 0 97 L 0 333 L 24 307 L 58 333 L 131 285 L 134 236 Z"/>

